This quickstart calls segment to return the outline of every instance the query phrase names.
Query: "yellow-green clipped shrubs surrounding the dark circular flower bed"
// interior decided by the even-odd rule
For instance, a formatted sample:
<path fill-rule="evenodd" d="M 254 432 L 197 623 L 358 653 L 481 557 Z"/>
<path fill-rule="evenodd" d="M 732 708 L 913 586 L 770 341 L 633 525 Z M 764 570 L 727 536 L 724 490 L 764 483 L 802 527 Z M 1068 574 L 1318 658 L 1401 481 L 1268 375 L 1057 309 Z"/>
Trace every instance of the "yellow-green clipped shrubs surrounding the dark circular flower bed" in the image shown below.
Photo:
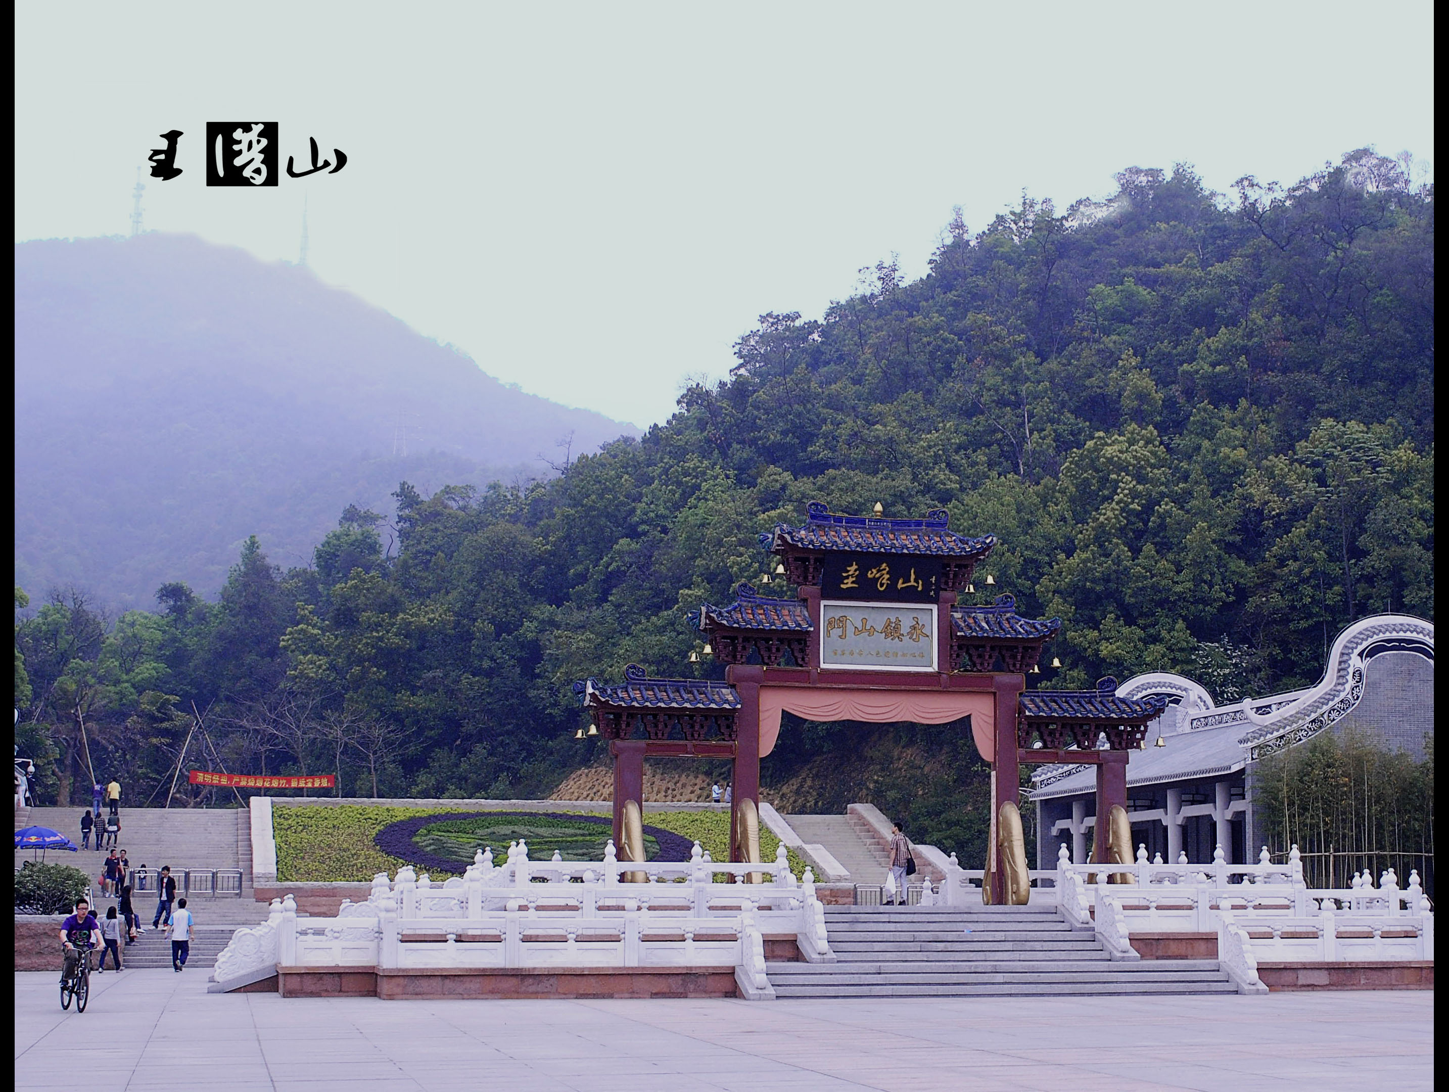
<path fill-rule="evenodd" d="M 368 883 L 380 872 L 391 876 L 407 861 L 378 848 L 374 841 L 378 831 L 401 819 L 436 814 L 436 808 L 384 808 L 352 803 L 336 808 L 277 805 L 272 808 L 277 880 L 280 883 Z M 561 814 L 598 815 L 598 812 L 582 811 Z M 478 812 L 477 815 L 484 819 L 490 812 Z M 680 834 L 691 843 L 698 841 L 700 847 L 714 860 L 724 860 L 729 854 L 727 812 L 646 811 L 643 821 L 651 827 Z M 759 850 L 765 860 L 774 860 L 778 845 L 780 838 L 762 825 Z M 797 876 L 804 872 L 804 859 L 793 850 L 788 850 L 788 860 L 790 869 Z M 461 874 L 465 867 L 459 863 L 456 873 L 439 869 L 433 870 L 432 874 Z"/>

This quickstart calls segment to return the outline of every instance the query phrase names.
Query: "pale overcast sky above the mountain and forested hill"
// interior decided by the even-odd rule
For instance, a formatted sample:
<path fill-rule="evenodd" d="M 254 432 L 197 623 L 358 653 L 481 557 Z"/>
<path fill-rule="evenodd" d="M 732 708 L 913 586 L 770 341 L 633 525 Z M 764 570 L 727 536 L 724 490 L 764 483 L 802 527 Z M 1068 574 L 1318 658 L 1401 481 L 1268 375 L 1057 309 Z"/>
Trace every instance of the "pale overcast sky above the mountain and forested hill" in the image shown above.
<path fill-rule="evenodd" d="M 209 120 L 339 174 L 207 189 Z M 1227 191 L 1432 164 L 1429 3 L 22 3 L 14 238 L 145 228 L 310 264 L 525 390 L 648 426 L 767 310 L 919 277 L 952 206 L 1123 167 Z"/>

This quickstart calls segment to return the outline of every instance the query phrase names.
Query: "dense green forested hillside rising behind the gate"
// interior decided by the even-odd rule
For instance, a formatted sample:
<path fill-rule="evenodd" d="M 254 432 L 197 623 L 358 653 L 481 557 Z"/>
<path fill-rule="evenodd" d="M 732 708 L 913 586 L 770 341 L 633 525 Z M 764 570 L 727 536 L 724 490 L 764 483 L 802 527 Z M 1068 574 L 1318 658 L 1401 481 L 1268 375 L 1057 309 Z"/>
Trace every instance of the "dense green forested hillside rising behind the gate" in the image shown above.
<path fill-rule="evenodd" d="M 1187 168 L 1119 181 L 958 216 L 924 278 L 882 262 L 820 319 L 762 316 L 727 381 L 555 480 L 401 484 L 391 557 L 348 510 L 309 567 L 246 545 L 216 603 L 168 584 L 110 632 L 32 608 L 26 745 L 83 780 L 84 705 L 93 758 L 143 799 L 194 700 L 236 769 L 546 793 L 600 748 L 572 738 L 571 683 L 722 674 L 688 663 L 684 612 L 756 579 L 756 532 L 816 499 L 997 535 L 980 597 L 1065 621 L 1040 686 L 1179 670 L 1226 700 L 1316 679 L 1353 618 L 1433 618 L 1432 189 L 1369 152 L 1229 197 Z M 874 772 L 864 747 L 787 725 L 767 785 L 833 764 L 924 840 L 978 837 L 968 744 L 900 728 Z"/>

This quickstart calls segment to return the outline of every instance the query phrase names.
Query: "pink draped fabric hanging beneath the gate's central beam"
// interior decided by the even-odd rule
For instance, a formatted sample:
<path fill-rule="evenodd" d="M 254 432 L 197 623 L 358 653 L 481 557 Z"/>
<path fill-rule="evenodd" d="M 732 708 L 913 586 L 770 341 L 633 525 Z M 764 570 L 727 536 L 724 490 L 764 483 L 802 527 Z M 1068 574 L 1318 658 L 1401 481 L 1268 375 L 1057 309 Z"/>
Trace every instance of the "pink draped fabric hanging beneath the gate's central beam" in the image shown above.
<path fill-rule="evenodd" d="M 759 687 L 759 756 L 775 750 L 780 713 L 807 721 L 869 721 L 890 724 L 946 724 L 971 718 L 971 737 L 985 761 L 995 761 L 995 696 L 962 690 L 806 690 L 793 686 Z"/>

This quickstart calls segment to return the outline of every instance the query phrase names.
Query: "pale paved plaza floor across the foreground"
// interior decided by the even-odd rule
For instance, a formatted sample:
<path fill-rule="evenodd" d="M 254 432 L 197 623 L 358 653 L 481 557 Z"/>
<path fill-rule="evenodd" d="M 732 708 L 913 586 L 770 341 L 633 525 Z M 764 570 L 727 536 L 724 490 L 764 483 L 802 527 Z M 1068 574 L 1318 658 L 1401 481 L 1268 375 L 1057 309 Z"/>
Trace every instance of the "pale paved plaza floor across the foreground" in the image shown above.
<path fill-rule="evenodd" d="M 1433 992 L 885 1001 L 206 993 L 206 972 L 14 976 L 14 1088 L 288 1092 L 1313 1089 L 1433 1083 Z"/>

